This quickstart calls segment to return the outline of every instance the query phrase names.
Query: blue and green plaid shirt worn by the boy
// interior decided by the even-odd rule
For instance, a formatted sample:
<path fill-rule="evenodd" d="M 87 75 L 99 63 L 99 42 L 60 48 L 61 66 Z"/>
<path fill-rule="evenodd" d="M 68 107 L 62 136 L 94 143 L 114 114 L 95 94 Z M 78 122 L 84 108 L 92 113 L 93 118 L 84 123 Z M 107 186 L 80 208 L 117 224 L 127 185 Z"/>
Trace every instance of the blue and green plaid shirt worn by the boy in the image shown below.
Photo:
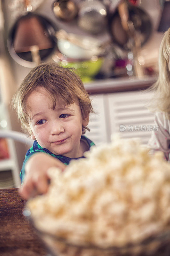
<path fill-rule="evenodd" d="M 94 145 L 94 143 L 91 140 L 89 140 L 87 137 L 85 137 L 83 135 L 81 136 L 81 140 L 84 140 L 89 145 L 89 148 Z M 33 146 L 31 148 L 29 148 L 28 151 L 26 152 L 26 158 L 25 158 L 24 163 L 22 165 L 22 170 L 20 172 L 21 184 L 22 184 L 22 182 L 24 180 L 24 176 L 25 176 L 26 161 L 30 158 L 30 156 L 32 156 L 36 152 L 44 152 L 44 153 L 47 153 L 50 156 L 54 156 L 55 158 L 59 159 L 62 163 L 66 164 L 66 165 L 68 165 L 70 163 L 70 160 L 72 160 L 72 159 L 85 158 L 84 156 L 81 156 L 81 157 L 78 157 L 78 158 L 70 158 L 70 157 L 62 156 L 62 155 L 59 155 L 59 156 L 54 155 L 47 148 L 42 148 L 38 144 L 38 142 L 36 140 L 34 140 Z"/>

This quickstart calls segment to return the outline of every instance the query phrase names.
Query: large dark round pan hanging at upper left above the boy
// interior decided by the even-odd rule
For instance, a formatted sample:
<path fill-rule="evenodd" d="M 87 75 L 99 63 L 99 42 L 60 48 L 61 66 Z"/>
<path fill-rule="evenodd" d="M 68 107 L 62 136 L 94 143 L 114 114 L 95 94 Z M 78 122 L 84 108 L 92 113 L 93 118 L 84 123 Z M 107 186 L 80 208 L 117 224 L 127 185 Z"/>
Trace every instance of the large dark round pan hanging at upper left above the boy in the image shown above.
<path fill-rule="evenodd" d="M 27 10 L 32 10 L 30 1 L 25 2 Z M 11 57 L 22 66 L 36 66 L 53 52 L 55 30 L 45 17 L 28 12 L 10 31 L 7 46 Z"/>

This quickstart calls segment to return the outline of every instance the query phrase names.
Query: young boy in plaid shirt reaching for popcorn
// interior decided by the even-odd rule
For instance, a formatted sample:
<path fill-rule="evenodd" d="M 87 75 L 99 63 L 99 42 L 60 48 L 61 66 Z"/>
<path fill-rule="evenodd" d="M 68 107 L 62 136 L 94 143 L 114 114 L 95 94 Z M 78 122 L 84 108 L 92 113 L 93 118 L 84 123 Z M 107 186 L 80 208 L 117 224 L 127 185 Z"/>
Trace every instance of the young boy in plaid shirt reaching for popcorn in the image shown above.
<path fill-rule="evenodd" d="M 33 68 L 13 97 L 22 128 L 34 141 L 20 173 L 21 195 L 46 193 L 47 170 L 62 171 L 71 159 L 84 157 L 94 143 L 83 136 L 93 112 L 81 79 L 71 68 L 43 63 Z"/>

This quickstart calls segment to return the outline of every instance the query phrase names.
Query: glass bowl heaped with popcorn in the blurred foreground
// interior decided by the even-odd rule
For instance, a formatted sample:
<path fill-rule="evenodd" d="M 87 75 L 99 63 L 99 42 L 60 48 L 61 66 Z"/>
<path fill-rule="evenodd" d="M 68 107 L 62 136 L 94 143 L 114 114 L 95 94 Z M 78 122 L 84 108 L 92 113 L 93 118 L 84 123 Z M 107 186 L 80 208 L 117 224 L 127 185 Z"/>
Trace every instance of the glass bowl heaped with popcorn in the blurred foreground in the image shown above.
<path fill-rule="evenodd" d="M 52 255 L 170 255 L 170 164 L 137 139 L 114 138 L 50 168 L 48 193 L 28 201 Z"/>

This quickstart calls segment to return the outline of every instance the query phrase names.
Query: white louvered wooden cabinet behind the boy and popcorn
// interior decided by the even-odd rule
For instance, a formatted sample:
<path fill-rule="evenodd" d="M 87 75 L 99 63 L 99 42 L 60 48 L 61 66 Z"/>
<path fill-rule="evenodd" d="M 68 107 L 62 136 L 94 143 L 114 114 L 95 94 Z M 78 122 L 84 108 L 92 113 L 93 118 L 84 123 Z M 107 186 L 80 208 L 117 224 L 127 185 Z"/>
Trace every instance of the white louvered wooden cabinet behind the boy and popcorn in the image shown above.
<path fill-rule="evenodd" d="M 138 137 L 147 144 L 153 129 L 153 113 L 146 105 L 152 94 L 145 91 L 115 92 L 91 96 L 96 115 L 90 118 L 87 137 L 96 145 L 111 141 L 112 134 L 122 138 Z"/>

